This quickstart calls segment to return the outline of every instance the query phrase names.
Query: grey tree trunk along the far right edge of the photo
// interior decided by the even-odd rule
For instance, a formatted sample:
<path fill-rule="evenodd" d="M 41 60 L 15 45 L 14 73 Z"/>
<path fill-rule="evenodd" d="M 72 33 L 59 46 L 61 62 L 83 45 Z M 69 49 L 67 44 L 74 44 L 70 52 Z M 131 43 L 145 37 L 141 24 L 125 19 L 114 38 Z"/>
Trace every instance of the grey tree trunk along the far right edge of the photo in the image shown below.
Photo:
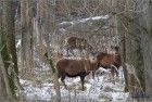
<path fill-rule="evenodd" d="M 139 0 L 140 4 L 141 0 Z M 141 28 L 141 48 L 143 53 L 143 61 L 144 61 L 144 74 L 145 74 L 145 93 L 150 98 L 152 97 L 152 2 L 148 0 L 147 2 L 142 3 L 139 10 L 144 10 L 145 8 L 147 14 L 142 14 L 142 17 L 139 18 L 139 26 Z"/>

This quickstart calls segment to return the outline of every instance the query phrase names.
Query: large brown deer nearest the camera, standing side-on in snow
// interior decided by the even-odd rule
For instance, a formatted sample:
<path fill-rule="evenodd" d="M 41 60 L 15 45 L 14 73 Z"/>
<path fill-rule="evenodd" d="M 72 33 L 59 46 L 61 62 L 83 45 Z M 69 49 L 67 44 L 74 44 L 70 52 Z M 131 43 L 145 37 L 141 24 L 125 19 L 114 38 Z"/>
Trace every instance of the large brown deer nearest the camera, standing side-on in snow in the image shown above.
<path fill-rule="evenodd" d="M 59 72 L 59 78 L 61 78 L 61 81 L 64 84 L 64 87 L 66 88 L 66 85 L 64 82 L 65 77 L 80 77 L 81 80 L 81 87 L 84 90 L 84 80 L 85 77 L 90 73 L 94 72 L 97 69 L 97 56 L 96 58 L 89 58 L 89 60 L 81 59 L 81 60 L 72 60 L 72 59 L 61 59 L 56 63 L 56 69 Z"/>

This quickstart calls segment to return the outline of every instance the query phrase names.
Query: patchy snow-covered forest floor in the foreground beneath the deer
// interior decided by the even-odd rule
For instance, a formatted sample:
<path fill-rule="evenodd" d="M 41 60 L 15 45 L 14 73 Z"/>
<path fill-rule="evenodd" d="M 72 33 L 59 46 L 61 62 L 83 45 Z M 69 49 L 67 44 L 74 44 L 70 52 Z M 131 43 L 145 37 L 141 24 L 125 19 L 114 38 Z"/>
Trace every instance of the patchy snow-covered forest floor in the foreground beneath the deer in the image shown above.
<path fill-rule="evenodd" d="M 36 71 L 38 72 L 39 68 Z M 42 72 L 45 72 L 45 68 L 40 71 L 39 77 L 43 76 Z M 47 67 L 46 72 L 48 72 Z M 24 90 L 21 92 L 24 100 L 31 102 L 54 102 L 55 90 L 53 84 L 45 80 L 47 79 L 43 79 L 40 86 L 34 86 L 33 81 L 20 79 L 24 87 Z M 99 68 L 94 80 L 90 75 L 86 77 L 85 91 L 80 90 L 81 84 L 79 77 L 66 77 L 65 84 L 67 85 L 68 90 L 64 89 L 61 84 L 62 102 L 126 102 L 129 95 L 128 92 L 123 92 L 124 77 L 122 68 L 119 69 L 119 76 L 115 78 L 113 82 L 111 80 L 110 72 Z"/>

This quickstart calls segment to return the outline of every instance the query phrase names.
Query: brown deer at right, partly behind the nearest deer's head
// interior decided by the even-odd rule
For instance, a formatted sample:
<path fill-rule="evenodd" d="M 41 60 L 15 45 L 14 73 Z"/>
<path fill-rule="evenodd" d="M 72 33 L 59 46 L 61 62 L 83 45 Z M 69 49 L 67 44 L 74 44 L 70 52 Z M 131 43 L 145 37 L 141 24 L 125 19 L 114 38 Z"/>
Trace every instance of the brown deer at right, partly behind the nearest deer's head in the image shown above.
<path fill-rule="evenodd" d="M 118 76 L 117 68 L 122 65 L 121 55 L 118 53 L 109 54 L 100 52 L 97 59 L 98 67 L 111 68 L 112 76 L 114 76 L 115 73 L 116 76 Z"/>

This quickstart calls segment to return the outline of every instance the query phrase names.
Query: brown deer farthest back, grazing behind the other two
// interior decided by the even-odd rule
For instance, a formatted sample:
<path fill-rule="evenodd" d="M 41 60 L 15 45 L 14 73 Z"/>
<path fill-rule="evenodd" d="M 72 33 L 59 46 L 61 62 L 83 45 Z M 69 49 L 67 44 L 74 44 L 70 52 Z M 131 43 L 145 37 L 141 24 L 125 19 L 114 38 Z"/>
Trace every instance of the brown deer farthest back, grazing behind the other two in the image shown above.
<path fill-rule="evenodd" d="M 86 50 L 86 51 L 92 51 L 92 47 L 87 42 L 86 39 L 84 38 L 78 38 L 78 37 L 68 37 L 65 39 L 65 46 L 66 46 L 66 52 L 74 54 L 72 50 L 78 49 L 80 51 Z"/>

